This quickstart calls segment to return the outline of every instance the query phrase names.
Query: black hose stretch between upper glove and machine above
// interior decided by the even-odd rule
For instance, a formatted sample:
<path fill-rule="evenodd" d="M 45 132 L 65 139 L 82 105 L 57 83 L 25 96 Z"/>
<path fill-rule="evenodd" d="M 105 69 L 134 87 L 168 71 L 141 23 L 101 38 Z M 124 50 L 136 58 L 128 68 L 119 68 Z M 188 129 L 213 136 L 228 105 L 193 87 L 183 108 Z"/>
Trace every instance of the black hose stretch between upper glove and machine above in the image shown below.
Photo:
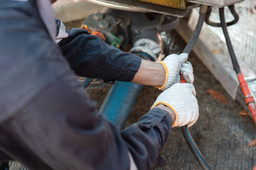
<path fill-rule="evenodd" d="M 197 21 L 197 26 L 192 34 L 192 37 L 190 38 L 189 42 L 187 43 L 187 46 L 183 50 L 185 53 L 190 53 L 192 48 L 194 47 L 195 43 L 197 42 L 197 38 L 202 30 L 202 25 L 205 21 L 205 13 L 200 13 L 198 21 Z"/>

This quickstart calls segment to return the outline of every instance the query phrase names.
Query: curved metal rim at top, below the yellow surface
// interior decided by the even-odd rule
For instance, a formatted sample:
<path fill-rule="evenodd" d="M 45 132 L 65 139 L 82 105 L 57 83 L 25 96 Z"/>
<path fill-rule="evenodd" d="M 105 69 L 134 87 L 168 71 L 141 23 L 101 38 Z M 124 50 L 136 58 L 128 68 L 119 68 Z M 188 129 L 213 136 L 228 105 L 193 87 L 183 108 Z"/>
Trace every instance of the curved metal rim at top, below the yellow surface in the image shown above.
<path fill-rule="evenodd" d="M 176 17 L 184 17 L 186 10 L 167 7 L 163 5 L 152 4 L 139 0 L 86 0 L 97 5 L 103 5 L 118 10 L 130 10 L 137 12 L 154 12 L 166 15 L 173 15 Z"/>

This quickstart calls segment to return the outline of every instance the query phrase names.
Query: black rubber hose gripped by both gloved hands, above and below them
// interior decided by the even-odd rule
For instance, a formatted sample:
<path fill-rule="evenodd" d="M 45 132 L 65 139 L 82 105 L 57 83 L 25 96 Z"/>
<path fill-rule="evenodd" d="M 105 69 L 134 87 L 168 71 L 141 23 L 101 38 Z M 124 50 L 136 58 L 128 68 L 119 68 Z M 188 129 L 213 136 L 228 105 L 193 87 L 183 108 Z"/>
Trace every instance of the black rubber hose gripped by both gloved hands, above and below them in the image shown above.
<path fill-rule="evenodd" d="M 197 21 L 197 25 L 196 25 L 196 28 L 195 28 L 193 34 L 192 34 L 192 37 L 190 38 L 190 40 L 189 40 L 187 46 L 185 47 L 185 49 L 183 50 L 184 53 L 189 54 L 192 51 L 192 48 L 194 47 L 194 45 L 195 45 L 195 43 L 196 43 L 196 41 L 199 37 L 199 34 L 202 30 L 202 25 L 203 25 L 204 21 L 205 21 L 205 13 L 200 13 L 198 21 Z M 188 126 L 187 125 L 182 126 L 181 129 L 182 129 L 182 134 L 184 136 L 184 139 L 186 140 L 187 145 L 189 146 L 192 154 L 195 156 L 199 165 L 204 170 L 211 170 L 209 164 L 207 163 L 207 161 L 203 157 L 200 150 L 197 148 L 197 145 L 195 144 L 195 142 L 194 142 L 194 140 L 193 140 L 193 138 L 192 138 L 192 136 L 189 132 Z"/>

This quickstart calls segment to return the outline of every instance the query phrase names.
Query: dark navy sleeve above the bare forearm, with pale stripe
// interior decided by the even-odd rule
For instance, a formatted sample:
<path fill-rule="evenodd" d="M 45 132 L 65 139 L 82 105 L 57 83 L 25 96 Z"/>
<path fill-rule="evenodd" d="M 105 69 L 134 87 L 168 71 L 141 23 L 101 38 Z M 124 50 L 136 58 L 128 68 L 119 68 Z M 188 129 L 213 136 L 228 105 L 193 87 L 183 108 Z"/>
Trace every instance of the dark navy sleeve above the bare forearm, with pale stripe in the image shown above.
<path fill-rule="evenodd" d="M 141 65 L 141 58 L 111 47 L 87 31 L 66 30 L 56 19 L 57 37 L 64 57 L 74 72 L 82 77 L 130 82 Z"/>

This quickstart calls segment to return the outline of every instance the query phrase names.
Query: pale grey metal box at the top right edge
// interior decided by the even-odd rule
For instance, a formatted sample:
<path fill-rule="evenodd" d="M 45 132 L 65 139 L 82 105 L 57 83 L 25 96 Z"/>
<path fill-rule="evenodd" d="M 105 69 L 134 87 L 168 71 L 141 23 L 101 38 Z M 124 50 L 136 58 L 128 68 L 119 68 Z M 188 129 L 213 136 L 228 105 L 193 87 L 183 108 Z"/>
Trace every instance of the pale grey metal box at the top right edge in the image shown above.
<path fill-rule="evenodd" d="M 188 2 L 200 3 L 208 6 L 224 7 L 244 0 L 187 0 Z"/>

